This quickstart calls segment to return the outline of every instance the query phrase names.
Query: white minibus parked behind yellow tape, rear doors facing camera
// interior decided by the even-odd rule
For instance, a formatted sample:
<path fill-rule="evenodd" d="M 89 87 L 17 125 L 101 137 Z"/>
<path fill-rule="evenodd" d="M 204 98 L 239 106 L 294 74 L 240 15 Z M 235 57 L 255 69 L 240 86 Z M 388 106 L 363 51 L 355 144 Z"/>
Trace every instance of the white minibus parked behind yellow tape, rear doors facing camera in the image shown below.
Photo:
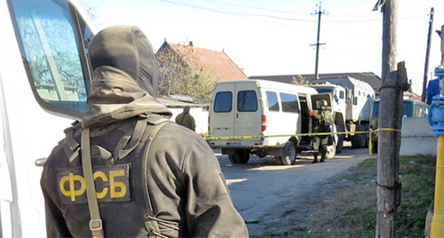
<path fill-rule="evenodd" d="M 278 164 L 294 163 L 297 148 L 312 147 L 311 137 L 295 135 L 313 132 L 309 112 L 320 96 L 331 105 L 329 94 L 308 86 L 266 80 L 218 82 L 210 101 L 210 147 L 221 148 L 232 163 L 247 163 L 250 154 L 274 155 Z"/>

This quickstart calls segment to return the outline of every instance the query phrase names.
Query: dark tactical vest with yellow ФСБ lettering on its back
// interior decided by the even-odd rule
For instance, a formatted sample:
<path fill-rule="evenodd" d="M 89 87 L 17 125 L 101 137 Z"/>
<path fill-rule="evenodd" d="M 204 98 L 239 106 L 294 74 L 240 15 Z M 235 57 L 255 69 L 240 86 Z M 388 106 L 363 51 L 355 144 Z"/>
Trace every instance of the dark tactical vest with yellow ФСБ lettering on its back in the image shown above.
<path fill-rule="evenodd" d="M 156 132 L 170 121 L 160 115 L 129 121 L 132 124 L 115 123 L 114 128 L 91 132 L 92 172 L 104 234 L 115 237 L 186 236 L 185 225 L 155 218 L 147 191 L 147 151 Z M 80 131 L 80 123 L 66 131 L 64 149 L 70 167 L 57 170 L 59 210 L 63 212 L 71 234 L 91 236 Z"/>

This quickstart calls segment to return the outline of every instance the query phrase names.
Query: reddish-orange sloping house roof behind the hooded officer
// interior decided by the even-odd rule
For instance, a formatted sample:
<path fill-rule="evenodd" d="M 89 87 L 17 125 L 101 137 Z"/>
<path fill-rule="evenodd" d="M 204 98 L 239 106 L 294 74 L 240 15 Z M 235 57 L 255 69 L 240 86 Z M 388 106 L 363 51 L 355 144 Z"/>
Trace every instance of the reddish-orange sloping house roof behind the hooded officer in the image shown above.
<path fill-rule="evenodd" d="M 193 43 L 171 44 L 165 41 L 164 44 L 169 44 L 174 52 L 186 61 L 186 64 L 193 68 L 197 75 L 200 75 L 203 70 L 214 70 L 218 81 L 234 80 L 234 79 L 248 79 L 241 68 L 234 64 L 225 52 L 217 52 L 202 48 L 194 47 Z M 160 52 L 163 46 L 159 49 Z"/>

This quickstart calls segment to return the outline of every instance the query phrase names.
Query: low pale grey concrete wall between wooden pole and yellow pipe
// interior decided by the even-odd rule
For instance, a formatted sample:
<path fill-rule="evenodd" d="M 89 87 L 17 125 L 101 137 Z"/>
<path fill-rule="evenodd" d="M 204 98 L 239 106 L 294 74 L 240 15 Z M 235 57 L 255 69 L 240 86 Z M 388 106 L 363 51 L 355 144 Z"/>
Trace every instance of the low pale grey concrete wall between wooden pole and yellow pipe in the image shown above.
<path fill-rule="evenodd" d="M 432 135 L 427 117 L 404 118 L 400 155 L 436 156 L 437 138 Z"/>

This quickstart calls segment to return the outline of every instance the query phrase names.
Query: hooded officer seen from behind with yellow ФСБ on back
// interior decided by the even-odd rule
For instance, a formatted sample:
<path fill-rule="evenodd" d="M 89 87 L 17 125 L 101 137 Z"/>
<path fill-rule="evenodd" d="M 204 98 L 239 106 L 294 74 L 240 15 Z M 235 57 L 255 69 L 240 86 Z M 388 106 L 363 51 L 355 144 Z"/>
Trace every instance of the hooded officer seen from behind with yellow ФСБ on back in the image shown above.
<path fill-rule="evenodd" d="M 44 164 L 48 236 L 248 237 L 210 147 L 155 98 L 147 37 L 105 28 L 89 54 L 91 110 Z"/>

